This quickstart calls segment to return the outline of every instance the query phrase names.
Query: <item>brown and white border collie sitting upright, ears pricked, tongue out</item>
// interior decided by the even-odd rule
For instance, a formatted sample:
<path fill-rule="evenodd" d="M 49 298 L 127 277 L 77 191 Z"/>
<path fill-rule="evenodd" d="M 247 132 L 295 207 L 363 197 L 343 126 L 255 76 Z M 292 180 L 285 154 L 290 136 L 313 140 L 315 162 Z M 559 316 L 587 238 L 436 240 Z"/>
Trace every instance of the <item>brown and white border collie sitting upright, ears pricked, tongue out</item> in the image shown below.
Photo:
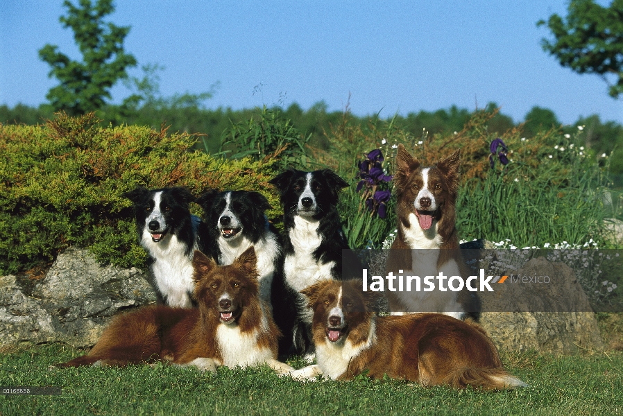
<path fill-rule="evenodd" d="M 394 187 L 398 236 L 387 257 L 386 272 L 394 275 L 466 277 L 454 226 L 459 189 L 459 150 L 435 166 L 422 167 L 398 145 Z M 440 250 L 441 249 L 441 250 Z M 445 313 L 464 318 L 477 300 L 466 291 L 389 292 L 393 315 L 416 312 Z"/>

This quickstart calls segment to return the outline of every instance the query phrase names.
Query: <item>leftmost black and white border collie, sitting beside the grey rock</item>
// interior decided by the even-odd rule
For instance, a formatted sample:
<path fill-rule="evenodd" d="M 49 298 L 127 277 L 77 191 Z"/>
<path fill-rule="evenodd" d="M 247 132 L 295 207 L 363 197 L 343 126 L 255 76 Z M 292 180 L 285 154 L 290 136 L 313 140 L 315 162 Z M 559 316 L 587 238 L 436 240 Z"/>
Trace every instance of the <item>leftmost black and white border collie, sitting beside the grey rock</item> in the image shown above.
<path fill-rule="evenodd" d="M 205 225 L 190 213 L 195 197 L 182 187 L 122 194 L 134 204 L 139 244 L 149 255 L 148 273 L 160 304 L 193 306 L 193 253 L 205 250 Z"/>

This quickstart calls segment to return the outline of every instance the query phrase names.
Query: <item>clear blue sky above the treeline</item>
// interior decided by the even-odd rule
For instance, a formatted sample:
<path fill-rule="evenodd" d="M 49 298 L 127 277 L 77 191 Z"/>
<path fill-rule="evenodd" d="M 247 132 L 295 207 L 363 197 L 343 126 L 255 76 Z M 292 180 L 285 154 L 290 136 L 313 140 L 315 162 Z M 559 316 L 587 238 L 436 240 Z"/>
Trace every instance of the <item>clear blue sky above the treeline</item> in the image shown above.
<path fill-rule="evenodd" d="M 77 3 L 77 0 L 74 0 Z M 603 3 L 603 2 L 600 2 Z M 387 117 L 490 101 L 522 121 L 533 107 L 563 123 L 599 114 L 623 123 L 623 103 L 603 80 L 562 68 L 543 52 L 536 21 L 564 0 L 534 1 L 138 1 L 117 0 L 108 19 L 132 26 L 125 49 L 160 64 L 164 96 L 209 91 L 209 108 L 259 105 Z M 37 51 L 56 44 L 80 58 L 60 26 L 62 0 L 2 0 L 0 104 L 39 105 L 56 85 Z M 130 75 L 141 76 L 139 68 Z M 121 101 L 128 89 L 113 90 Z"/>

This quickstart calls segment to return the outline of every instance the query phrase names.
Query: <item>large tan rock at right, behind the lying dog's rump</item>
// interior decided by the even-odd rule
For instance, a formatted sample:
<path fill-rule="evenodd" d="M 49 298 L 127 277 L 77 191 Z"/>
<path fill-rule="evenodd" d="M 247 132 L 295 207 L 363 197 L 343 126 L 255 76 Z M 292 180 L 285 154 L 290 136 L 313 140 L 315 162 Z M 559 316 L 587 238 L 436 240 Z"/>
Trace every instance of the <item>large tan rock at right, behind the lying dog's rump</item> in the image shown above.
<path fill-rule="evenodd" d="M 555 276 L 558 284 L 532 293 L 524 284 L 504 284 L 495 296 L 481 297 L 480 323 L 498 348 L 554 355 L 603 349 L 595 313 L 570 267 L 539 257 L 513 274 Z"/>

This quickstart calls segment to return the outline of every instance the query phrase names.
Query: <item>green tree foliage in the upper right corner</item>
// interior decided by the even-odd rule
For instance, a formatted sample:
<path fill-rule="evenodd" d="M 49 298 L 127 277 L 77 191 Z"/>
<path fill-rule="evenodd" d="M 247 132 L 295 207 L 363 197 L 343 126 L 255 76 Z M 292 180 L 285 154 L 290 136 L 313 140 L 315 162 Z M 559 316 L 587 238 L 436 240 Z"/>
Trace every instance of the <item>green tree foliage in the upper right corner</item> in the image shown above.
<path fill-rule="evenodd" d="M 547 22 L 538 21 L 554 35 L 553 40 L 541 41 L 543 50 L 563 67 L 601 76 L 608 83 L 608 94 L 617 98 L 623 93 L 623 0 L 613 0 L 609 7 L 593 0 L 571 0 L 567 11 L 565 18 L 554 14 Z"/>

